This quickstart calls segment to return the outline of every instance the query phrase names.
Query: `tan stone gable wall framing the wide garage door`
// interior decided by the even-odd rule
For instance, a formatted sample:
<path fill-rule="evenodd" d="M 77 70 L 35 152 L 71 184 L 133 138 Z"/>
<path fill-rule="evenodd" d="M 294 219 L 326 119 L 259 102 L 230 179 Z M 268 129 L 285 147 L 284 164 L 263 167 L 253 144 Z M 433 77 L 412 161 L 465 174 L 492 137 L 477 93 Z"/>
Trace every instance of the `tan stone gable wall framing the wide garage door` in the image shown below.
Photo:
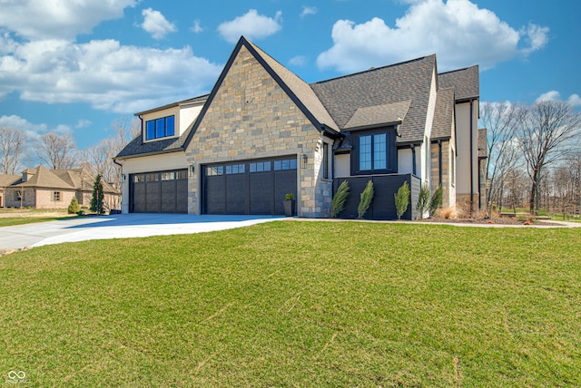
<path fill-rule="evenodd" d="M 188 212 L 202 209 L 202 165 L 290 155 L 299 167 L 299 216 L 323 216 L 330 209 L 332 183 L 320 179 L 321 140 L 320 131 L 242 46 L 186 150 L 188 164 L 195 166 L 188 181 Z M 308 156 L 305 169 L 300 168 L 303 153 Z"/>

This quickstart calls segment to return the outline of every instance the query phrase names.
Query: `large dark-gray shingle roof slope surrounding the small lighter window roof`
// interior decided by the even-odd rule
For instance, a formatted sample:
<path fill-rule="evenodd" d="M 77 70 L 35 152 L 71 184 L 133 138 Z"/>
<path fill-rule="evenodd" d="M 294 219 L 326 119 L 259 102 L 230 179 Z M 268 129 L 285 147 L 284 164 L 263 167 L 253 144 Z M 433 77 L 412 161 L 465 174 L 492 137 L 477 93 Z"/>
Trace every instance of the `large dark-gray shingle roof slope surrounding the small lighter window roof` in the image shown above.
<path fill-rule="evenodd" d="M 391 64 L 339 78 L 311 83 L 310 87 L 341 130 L 346 130 L 361 108 L 409 102 L 399 127 L 399 142 L 422 141 L 428 115 L 429 92 L 436 55 Z"/>

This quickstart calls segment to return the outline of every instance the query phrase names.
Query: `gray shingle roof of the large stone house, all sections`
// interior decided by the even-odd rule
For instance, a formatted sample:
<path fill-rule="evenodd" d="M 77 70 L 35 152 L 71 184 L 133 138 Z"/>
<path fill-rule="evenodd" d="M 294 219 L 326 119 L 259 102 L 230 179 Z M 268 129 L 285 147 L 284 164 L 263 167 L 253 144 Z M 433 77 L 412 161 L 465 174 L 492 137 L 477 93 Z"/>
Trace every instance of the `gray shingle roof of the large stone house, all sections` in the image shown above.
<path fill-rule="evenodd" d="M 402 119 L 403 122 L 399 126 L 399 143 L 424 140 L 436 55 L 308 84 L 256 45 L 243 38 L 241 42 L 250 45 L 263 63 L 271 67 L 274 75 L 295 94 L 298 103 L 304 105 L 302 109 L 310 112 L 321 124 L 326 124 L 335 131 L 351 131 L 391 124 Z M 211 95 L 184 102 L 207 103 Z M 438 74 L 438 97 L 432 136 L 442 138 L 451 135 L 454 99 L 459 101 L 478 96 L 478 66 Z M 176 102 L 165 107 L 180 103 Z M 202 114 L 203 112 L 202 110 Z M 191 133 L 194 124 L 195 121 L 180 138 L 143 142 L 142 137 L 138 136 L 116 158 L 183 150 L 187 147 L 189 139 L 195 135 Z"/>

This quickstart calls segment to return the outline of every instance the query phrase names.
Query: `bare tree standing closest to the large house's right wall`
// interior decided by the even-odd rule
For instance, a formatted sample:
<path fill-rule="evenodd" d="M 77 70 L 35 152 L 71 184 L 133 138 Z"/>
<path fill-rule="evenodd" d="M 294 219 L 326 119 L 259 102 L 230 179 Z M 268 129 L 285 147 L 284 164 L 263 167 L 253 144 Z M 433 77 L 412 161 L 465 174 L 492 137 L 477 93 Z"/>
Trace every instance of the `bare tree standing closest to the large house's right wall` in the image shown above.
<path fill-rule="evenodd" d="M 487 205 L 488 216 L 492 214 L 493 201 L 501 202 L 503 178 L 507 170 L 517 162 L 515 136 L 522 110 L 517 103 L 484 102 L 480 108 L 480 121 L 487 129 L 487 180 L 490 191 Z"/>

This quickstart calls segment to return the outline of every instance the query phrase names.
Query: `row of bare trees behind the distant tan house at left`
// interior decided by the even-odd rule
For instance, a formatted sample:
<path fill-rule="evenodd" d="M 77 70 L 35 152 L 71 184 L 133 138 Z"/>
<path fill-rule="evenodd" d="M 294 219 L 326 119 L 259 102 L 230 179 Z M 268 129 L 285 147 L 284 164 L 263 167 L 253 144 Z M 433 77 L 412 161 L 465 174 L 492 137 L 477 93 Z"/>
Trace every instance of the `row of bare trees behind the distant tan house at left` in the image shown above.
<path fill-rule="evenodd" d="M 112 136 L 84 150 L 76 147 L 70 133 L 48 132 L 34 138 L 18 128 L 0 127 L 0 173 L 17 175 L 25 168 L 28 152 L 51 170 L 84 168 L 119 187 L 121 168 L 113 162 L 123 147 L 140 132 L 140 122 L 125 117 L 113 121 Z M 33 151 L 34 150 L 34 151 Z"/>

